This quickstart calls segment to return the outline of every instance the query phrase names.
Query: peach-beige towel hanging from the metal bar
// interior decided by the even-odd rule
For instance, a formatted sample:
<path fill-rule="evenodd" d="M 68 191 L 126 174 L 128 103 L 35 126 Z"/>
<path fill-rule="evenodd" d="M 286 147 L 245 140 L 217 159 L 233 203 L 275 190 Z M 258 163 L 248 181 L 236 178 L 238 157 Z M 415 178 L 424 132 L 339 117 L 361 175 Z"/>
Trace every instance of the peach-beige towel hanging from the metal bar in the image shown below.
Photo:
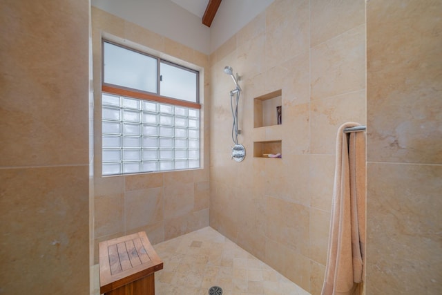
<path fill-rule="evenodd" d="M 365 132 L 336 137 L 336 168 L 327 266 L 321 295 L 361 294 L 365 254 Z"/>

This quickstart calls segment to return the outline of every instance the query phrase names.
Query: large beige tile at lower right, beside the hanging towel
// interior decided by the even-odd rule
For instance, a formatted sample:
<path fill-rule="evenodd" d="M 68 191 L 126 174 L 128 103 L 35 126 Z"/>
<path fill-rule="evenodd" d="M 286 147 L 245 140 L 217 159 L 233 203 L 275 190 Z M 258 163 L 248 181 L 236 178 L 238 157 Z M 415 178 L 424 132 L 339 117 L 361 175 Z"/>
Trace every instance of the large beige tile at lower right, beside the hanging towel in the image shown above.
<path fill-rule="evenodd" d="M 367 294 L 441 293 L 442 166 L 369 162 L 367 179 Z"/>

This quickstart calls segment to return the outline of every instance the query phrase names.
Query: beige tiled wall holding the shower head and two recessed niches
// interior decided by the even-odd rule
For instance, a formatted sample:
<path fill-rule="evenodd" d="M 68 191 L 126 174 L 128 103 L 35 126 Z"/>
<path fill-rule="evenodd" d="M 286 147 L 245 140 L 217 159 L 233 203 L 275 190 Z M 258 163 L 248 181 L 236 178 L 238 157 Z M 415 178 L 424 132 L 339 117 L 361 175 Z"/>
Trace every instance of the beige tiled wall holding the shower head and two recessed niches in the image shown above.
<path fill-rule="evenodd" d="M 231 159 L 232 66 L 242 76 Z M 253 128 L 253 97 L 282 89 L 282 125 Z M 365 1 L 274 1 L 211 55 L 210 225 L 320 294 L 327 258 L 336 131 L 365 124 Z M 282 159 L 253 158 L 281 140 Z"/>

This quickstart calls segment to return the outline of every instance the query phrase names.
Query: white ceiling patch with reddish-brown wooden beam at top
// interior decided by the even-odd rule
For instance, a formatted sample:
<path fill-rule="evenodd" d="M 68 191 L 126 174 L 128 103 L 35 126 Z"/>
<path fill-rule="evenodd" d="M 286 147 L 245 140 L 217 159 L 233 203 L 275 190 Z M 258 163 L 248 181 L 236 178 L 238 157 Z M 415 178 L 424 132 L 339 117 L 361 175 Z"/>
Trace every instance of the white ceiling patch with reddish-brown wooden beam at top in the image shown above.
<path fill-rule="evenodd" d="M 181 6 L 185 10 L 193 13 L 202 23 L 208 27 L 211 26 L 216 11 L 220 6 L 221 0 L 171 0 L 173 3 Z"/>

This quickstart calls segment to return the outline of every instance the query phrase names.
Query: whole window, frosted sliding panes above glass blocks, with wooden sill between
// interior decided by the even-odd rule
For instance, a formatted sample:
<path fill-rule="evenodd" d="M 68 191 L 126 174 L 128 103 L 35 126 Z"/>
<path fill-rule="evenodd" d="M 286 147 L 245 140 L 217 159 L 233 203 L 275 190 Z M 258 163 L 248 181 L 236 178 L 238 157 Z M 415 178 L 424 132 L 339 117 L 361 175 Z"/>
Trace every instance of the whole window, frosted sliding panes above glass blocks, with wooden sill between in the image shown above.
<path fill-rule="evenodd" d="M 103 45 L 102 174 L 199 168 L 198 71 Z"/>

